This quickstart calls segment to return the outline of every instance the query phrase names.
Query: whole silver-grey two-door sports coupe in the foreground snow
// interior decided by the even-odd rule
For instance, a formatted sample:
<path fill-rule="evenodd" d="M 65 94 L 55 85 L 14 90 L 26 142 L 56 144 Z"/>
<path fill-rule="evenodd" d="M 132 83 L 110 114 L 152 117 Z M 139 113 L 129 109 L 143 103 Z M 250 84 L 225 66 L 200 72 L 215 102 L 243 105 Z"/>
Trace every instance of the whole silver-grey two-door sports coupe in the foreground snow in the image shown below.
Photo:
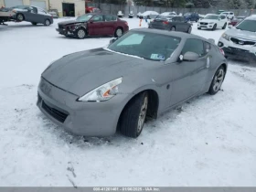
<path fill-rule="evenodd" d="M 69 54 L 42 73 L 37 106 L 68 132 L 137 137 L 156 118 L 208 92 L 227 72 L 211 39 L 182 32 L 133 29 L 106 48 Z"/>

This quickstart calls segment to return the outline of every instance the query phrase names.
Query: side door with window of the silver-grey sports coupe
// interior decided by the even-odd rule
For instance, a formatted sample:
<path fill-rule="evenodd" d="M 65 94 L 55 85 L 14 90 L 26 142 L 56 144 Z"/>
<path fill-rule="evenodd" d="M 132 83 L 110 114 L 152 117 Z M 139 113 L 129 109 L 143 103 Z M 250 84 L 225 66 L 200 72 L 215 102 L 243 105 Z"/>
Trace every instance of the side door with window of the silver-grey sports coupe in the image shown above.
<path fill-rule="evenodd" d="M 197 95 L 202 91 L 202 85 L 207 80 L 208 54 L 206 54 L 203 41 L 197 38 L 188 38 L 181 55 L 188 51 L 197 53 L 199 58 L 196 61 L 183 60 L 173 64 L 171 106 Z"/>

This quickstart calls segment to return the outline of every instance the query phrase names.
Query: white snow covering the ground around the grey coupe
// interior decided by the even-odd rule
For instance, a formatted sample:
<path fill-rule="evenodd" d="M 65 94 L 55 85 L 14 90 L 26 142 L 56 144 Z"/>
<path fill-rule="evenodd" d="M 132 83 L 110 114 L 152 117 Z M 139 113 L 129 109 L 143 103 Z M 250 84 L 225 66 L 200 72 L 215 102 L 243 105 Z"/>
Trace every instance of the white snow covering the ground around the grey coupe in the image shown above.
<path fill-rule="evenodd" d="M 59 36 L 61 20 L 0 27 L 0 186 L 255 186 L 255 68 L 232 61 L 222 91 L 146 123 L 137 139 L 74 136 L 37 109 L 40 74 L 110 37 Z M 193 33 L 218 41 L 223 30 Z"/>

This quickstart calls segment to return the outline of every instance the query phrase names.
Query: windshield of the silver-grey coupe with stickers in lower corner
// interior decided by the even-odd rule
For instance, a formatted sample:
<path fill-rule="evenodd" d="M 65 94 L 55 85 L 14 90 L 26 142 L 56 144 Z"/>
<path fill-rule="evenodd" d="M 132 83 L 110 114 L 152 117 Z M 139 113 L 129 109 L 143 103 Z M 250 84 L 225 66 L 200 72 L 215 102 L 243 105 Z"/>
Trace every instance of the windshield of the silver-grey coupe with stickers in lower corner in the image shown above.
<path fill-rule="evenodd" d="M 113 42 L 108 48 L 112 51 L 133 55 L 149 60 L 170 58 L 180 43 L 180 37 L 165 36 L 149 32 L 129 31 Z"/>

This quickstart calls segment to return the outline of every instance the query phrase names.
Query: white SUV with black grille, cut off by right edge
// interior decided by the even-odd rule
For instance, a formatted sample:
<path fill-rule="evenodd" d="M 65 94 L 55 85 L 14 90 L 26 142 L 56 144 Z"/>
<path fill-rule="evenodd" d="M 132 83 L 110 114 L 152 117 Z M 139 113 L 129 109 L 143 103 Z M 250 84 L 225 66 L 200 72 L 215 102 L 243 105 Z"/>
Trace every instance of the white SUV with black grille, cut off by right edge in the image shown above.
<path fill-rule="evenodd" d="M 256 62 L 256 17 L 247 17 L 219 38 L 227 58 Z"/>

